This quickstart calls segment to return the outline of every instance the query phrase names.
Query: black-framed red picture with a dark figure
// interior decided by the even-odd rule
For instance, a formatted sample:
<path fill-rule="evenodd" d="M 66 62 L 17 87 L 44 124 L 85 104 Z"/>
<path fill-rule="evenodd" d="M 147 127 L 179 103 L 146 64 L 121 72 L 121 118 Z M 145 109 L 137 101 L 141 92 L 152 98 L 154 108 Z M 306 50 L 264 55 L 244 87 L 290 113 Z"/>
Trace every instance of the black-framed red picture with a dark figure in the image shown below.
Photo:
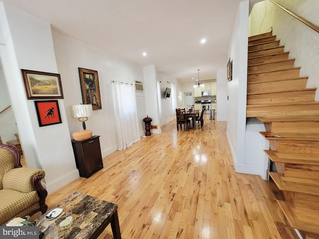
<path fill-rule="evenodd" d="M 62 123 L 59 104 L 53 101 L 34 101 L 39 127 Z"/>

